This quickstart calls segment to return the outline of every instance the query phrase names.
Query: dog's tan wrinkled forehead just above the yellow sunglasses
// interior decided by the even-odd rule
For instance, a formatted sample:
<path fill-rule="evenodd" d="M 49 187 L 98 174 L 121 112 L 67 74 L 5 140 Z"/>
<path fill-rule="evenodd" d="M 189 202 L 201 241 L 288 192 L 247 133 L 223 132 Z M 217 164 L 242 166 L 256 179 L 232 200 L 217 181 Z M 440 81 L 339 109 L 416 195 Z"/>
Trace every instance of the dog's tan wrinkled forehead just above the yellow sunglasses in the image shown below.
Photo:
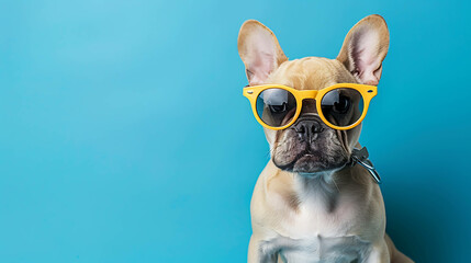
<path fill-rule="evenodd" d="M 284 84 L 296 90 L 321 90 L 336 83 L 357 83 L 357 80 L 336 59 L 306 57 L 284 61 L 266 83 Z"/>

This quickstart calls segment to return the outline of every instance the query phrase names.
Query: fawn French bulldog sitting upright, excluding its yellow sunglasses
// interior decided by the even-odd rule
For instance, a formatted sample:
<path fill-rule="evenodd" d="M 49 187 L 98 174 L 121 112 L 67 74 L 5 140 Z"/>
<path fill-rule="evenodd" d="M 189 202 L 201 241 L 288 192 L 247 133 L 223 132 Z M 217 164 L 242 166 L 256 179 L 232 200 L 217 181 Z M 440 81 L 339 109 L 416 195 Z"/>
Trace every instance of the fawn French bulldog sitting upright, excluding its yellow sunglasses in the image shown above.
<path fill-rule="evenodd" d="M 336 83 L 375 87 L 389 30 L 382 16 L 369 15 L 348 32 L 336 59 L 288 60 L 274 34 L 249 20 L 240 27 L 237 46 L 248 87 L 274 83 L 299 91 L 321 91 Z M 379 185 L 363 167 L 348 164 L 352 150 L 360 147 L 361 124 L 334 129 L 319 118 L 314 104 L 303 101 L 290 127 L 263 128 L 271 158 L 250 203 L 248 262 L 413 262 L 385 233 Z"/>

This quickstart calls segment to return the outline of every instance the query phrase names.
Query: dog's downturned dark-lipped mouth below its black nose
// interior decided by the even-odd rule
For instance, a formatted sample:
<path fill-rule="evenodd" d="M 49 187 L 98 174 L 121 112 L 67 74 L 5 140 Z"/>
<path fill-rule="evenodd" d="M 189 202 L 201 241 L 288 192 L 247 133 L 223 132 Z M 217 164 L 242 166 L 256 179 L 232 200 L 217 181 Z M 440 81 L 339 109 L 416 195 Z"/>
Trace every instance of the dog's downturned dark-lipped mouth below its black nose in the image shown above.
<path fill-rule="evenodd" d="M 328 157 L 322 152 L 303 151 L 294 158 L 294 160 L 287 164 L 273 163 L 284 171 L 290 171 L 300 174 L 316 174 L 329 171 L 336 171 L 344 168 L 349 159 L 345 155 L 337 157 Z"/>

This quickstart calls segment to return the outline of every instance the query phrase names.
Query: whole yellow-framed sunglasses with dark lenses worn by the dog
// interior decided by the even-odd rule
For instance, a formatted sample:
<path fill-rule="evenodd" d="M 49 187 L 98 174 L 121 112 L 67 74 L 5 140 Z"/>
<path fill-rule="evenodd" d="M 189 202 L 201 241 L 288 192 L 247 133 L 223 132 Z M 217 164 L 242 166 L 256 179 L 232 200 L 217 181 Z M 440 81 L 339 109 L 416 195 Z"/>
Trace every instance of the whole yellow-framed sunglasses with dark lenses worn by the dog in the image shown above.
<path fill-rule="evenodd" d="M 282 84 L 244 88 L 257 121 L 269 129 L 290 127 L 301 114 L 303 101 L 315 100 L 321 119 L 334 129 L 351 129 L 363 121 L 377 87 L 338 83 L 322 90 L 295 90 Z"/>

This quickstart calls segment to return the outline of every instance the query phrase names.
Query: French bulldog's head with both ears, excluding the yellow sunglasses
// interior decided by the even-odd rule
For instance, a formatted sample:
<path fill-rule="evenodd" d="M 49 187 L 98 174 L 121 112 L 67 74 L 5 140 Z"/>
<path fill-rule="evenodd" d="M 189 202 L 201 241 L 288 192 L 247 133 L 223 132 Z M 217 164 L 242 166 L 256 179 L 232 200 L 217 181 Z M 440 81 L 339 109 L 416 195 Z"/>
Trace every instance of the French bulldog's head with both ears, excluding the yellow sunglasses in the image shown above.
<path fill-rule="evenodd" d="M 380 15 L 358 22 L 347 34 L 336 59 L 288 60 L 274 34 L 258 21 L 243 24 L 238 52 L 250 85 L 283 84 L 321 90 L 336 83 L 378 85 L 388 53 L 389 31 Z M 313 175 L 341 169 L 358 144 L 361 124 L 333 129 L 319 118 L 314 100 L 304 100 L 296 122 L 282 130 L 265 128 L 271 158 L 280 169 Z"/>

